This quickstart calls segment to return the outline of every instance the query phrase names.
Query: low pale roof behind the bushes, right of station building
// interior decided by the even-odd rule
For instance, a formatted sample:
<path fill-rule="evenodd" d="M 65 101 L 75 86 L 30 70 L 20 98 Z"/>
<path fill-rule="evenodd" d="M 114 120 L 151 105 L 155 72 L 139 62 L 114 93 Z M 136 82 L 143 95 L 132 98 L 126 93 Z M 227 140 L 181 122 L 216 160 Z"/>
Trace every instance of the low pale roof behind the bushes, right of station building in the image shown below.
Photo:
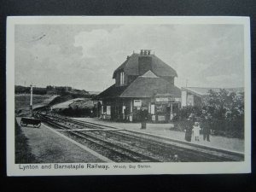
<path fill-rule="evenodd" d="M 195 94 L 196 96 L 208 96 L 209 90 L 213 90 L 215 92 L 219 92 L 221 89 L 228 90 L 230 92 L 244 92 L 243 87 L 239 88 L 206 88 L 206 87 L 182 87 L 182 90 L 187 90 L 192 94 Z"/>

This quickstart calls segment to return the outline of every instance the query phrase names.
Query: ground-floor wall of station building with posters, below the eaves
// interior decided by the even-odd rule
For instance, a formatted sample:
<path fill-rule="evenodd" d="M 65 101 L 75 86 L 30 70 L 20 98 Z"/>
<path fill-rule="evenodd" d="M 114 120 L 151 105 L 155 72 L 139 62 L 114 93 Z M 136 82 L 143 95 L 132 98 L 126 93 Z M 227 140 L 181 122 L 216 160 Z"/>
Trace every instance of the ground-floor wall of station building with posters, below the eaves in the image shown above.
<path fill-rule="evenodd" d="M 148 121 L 168 122 L 174 118 L 180 108 L 180 102 L 156 98 L 115 98 L 102 101 L 102 119 L 141 121 L 141 110 L 148 112 Z"/>

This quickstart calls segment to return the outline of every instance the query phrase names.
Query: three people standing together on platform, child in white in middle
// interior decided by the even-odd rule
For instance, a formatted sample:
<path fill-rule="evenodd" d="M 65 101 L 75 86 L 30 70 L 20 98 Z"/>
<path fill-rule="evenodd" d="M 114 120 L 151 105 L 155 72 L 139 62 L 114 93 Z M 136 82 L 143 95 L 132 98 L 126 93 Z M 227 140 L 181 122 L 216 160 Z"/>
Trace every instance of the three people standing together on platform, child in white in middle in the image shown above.
<path fill-rule="evenodd" d="M 202 130 L 203 133 L 203 140 L 210 142 L 210 128 L 209 126 L 205 125 L 201 128 L 199 122 L 195 121 L 193 118 L 189 118 L 190 125 L 186 128 L 185 132 L 185 140 L 187 142 L 191 142 L 192 136 L 195 137 L 195 141 L 200 141 L 200 131 Z M 195 122 L 195 123 L 194 123 Z"/>

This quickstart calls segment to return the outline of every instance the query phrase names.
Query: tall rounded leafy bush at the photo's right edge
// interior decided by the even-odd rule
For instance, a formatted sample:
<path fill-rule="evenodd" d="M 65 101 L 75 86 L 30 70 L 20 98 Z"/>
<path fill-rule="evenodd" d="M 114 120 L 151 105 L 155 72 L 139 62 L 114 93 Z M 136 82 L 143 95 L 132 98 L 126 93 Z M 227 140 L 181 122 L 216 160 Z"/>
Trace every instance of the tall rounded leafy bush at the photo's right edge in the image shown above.
<path fill-rule="evenodd" d="M 209 90 L 205 98 L 202 119 L 211 125 L 212 129 L 230 131 L 231 135 L 243 132 L 244 94 L 221 89 Z"/>

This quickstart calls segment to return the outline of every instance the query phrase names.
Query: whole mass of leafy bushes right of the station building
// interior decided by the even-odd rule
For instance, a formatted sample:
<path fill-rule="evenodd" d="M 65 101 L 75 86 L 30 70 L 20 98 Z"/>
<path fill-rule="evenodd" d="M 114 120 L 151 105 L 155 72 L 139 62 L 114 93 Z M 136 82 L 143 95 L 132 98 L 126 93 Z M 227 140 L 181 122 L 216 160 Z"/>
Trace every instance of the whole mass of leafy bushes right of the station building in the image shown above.
<path fill-rule="evenodd" d="M 244 137 L 244 96 L 228 90 L 209 91 L 201 107 L 188 106 L 180 109 L 177 130 L 184 130 L 192 122 L 199 121 L 208 126 L 215 135 Z"/>

